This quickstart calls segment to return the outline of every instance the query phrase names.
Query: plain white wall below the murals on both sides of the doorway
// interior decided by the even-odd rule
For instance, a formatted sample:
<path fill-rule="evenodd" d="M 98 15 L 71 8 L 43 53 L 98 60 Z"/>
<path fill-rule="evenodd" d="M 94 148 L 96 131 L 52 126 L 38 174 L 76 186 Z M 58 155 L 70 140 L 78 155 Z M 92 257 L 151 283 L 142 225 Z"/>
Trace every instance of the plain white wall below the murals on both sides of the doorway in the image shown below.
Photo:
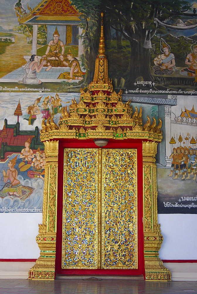
<path fill-rule="evenodd" d="M 0 258 L 38 258 L 38 223 L 42 213 L 1 213 Z M 164 236 L 161 259 L 197 259 L 196 214 L 159 214 L 158 223 Z"/>

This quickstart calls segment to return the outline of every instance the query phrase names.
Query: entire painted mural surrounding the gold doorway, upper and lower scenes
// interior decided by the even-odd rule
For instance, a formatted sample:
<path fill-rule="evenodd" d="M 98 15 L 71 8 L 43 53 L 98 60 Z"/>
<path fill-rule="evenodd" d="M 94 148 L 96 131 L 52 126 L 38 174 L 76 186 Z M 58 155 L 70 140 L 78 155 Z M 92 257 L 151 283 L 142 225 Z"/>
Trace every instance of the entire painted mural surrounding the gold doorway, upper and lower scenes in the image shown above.
<path fill-rule="evenodd" d="M 197 213 L 196 3 L 121 1 L 115 13 L 110 0 L 9 2 L 0 3 L 0 212 L 42 211 L 40 129 L 58 125 L 93 80 L 104 11 L 114 89 L 133 111 L 142 107 L 143 124 L 162 121 L 158 212 Z"/>

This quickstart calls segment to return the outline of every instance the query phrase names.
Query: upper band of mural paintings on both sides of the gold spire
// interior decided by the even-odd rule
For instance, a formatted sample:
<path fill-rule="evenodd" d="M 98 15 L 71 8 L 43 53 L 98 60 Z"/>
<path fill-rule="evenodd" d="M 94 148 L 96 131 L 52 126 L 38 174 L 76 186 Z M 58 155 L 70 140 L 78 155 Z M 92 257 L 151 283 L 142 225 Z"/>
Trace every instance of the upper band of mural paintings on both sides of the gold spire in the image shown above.
<path fill-rule="evenodd" d="M 197 4 L 192 0 L 121 1 L 116 13 L 110 0 L 107 5 L 102 0 L 4 2 L 1 91 L 86 88 L 94 76 L 103 11 L 109 76 L 117 90 L 196 95 Z"/>

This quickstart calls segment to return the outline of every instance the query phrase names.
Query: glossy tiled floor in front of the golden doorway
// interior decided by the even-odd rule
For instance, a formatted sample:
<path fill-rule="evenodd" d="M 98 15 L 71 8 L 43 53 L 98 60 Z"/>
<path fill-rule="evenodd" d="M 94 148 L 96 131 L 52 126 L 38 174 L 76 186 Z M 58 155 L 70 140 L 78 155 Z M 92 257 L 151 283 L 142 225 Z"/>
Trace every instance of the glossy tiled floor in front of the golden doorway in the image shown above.
<path fill-rule="evenodd" d="M 6 294 L 189 294 L 197 293 L 197 282 L 145 282 L 144 280 L 103 279 L 84 281 L 56 279 L 32 281 L 23 279 L 0 280 L 0 293 Z"/>

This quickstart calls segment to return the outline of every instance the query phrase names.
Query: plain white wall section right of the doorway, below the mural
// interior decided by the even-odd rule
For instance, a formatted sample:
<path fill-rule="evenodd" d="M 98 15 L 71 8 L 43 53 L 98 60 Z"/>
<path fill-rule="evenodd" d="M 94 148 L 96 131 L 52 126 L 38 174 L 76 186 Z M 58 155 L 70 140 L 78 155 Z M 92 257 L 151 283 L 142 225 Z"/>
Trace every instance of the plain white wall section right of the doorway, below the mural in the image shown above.
<path fill-rule="evenodd" d="M 164 241 L 159 257 L 197 260 L 197 214 L 158 214 Z"/>

